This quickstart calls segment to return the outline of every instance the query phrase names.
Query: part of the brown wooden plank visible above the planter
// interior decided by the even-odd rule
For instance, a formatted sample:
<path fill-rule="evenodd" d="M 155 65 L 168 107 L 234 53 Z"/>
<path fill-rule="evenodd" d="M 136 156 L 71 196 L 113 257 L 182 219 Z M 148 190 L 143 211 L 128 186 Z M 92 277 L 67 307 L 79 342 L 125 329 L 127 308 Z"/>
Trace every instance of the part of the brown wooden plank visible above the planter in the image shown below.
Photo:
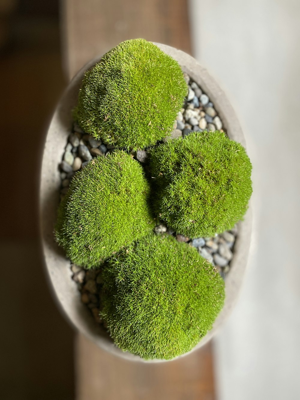
<path fill-rule="evenodd" d="M 65 68 L 74 74 L 123 40 L 144 38 L 190 54 L 186 0 L 65 0 Z"/>

